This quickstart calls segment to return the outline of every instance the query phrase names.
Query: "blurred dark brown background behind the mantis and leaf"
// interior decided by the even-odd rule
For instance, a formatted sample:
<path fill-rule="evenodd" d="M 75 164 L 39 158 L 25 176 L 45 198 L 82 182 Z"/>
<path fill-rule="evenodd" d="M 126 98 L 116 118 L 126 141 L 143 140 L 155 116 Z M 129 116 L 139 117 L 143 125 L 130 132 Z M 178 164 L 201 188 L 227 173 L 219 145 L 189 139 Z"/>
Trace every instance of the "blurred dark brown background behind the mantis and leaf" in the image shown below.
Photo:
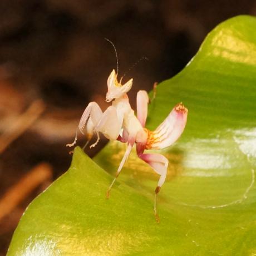
<path fill-rule="evenodd" d="M 0 2 L 0 255 L 29 202 L 68 169 L 65 145 L 88 102 L 107 107 L 116 58 L 104 38 L 120 75 L 134 78 L 135 107 L 138 90 L 179 72 L 212 28 L 238 14 L 255 15 L 256 1 Z M 149 61 L 129 71 L 141 57 Z"/>

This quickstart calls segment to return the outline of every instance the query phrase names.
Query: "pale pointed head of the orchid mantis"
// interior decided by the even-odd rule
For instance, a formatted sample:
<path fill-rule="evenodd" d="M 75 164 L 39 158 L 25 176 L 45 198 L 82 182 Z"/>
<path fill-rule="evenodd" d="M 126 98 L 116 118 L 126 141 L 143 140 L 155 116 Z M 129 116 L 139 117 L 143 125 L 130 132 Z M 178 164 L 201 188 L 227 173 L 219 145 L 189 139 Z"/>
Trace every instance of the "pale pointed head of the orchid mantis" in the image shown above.
<path fill-rule="evenodd" d="M 107 95 L 106 102 L 110 102 L 114 99 L 121 98 L 125 93 L 131 90 L 132 78 L 126 82 L 124 85 L 121 85 L 122 78 L 120 82 L 117 81 L 117 75 L 115 70 L 113 70 L 107 78 Z"/>

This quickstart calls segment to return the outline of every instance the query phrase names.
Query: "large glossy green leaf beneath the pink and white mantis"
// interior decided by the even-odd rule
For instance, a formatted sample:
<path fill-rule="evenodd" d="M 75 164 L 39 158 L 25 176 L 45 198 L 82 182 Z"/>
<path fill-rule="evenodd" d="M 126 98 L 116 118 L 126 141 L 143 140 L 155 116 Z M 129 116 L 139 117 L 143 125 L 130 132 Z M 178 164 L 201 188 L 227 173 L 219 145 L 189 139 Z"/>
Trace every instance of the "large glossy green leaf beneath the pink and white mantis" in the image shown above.
<path fill-rule="evenodd" d="M 255 28 L 249 16 L 221 23 L 157 87 L 149 129 L 177 102 L 189 109 L 181 139 L 162 151 L 170 164 L 160 224 L 159 176 L 135 152 L 106 200 L 125 146 L 111 142 L 95 157 L 103 169 L 77 147 L 67 173 L 29 205 L 8 255 L 255 255 Z"/>

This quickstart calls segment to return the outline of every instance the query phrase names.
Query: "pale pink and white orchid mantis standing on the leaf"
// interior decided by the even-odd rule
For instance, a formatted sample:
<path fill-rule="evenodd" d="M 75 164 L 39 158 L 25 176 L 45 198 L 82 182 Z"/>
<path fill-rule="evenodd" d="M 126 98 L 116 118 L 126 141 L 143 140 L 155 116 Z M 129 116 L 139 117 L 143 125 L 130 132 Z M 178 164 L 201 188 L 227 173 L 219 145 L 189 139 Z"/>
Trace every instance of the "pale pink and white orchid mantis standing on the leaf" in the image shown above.
<path fill-rule="evenodd" d="M 121 84 L 121 80 L 117 81 L 117 74 L 115 70 L 113 70 L 107 79 L 108 90 L 106 94 L 106 102 L 112 101 L 112 105 L 109 106 L 105 112 L 102 112 L 96 102 L 90 102 L 82 114 L 77 127 L 75 140 L 72 144 L 67 144 L 67 146 L 76 144 L 78 130 L 86 135 L 88 141 L 91 139 L 93 133 L 97 135 L 96 142 L 90 147 L 97 145 L 100 140 L 100 132 L 107 139 L 127 143 L 127 149 L 117 169 L 115 179 L 107 190 L 107 198 L 109 198 L 110 190 L 130 155 L 132 147 L 136 144 L 137 156 L 149 164 L 152 169 L 160 175 L 155 189 L 154 203 L 154 214 L 156 220 L 159 221 L 156 211 L 156 198 L 161 186 L 165 182 L 169 162 L 168 159 L 161 154 L 145 154 L 144 151 L 148 149 L 164 149 L 178 140 L 184 131 L 188 110 L 182 103 L 179 103 L 155 131 L 147 130 L 145 128 L 147 104 L 149 103 L 147 92 L 137 92 L 136 116 L 134 110 L 131 109 L 129 98 L 126 94 L 132 87 L 132 79 L 127 81 L 124 85 Z"/>

